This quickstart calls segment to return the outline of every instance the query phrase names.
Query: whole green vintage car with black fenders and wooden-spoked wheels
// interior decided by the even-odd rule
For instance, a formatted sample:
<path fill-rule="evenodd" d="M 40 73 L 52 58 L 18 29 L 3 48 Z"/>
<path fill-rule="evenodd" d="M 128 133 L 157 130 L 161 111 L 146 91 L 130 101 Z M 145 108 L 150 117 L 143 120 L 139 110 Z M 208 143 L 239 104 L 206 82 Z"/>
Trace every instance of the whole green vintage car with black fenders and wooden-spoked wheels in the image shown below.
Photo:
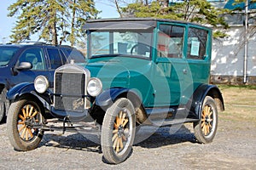
<path fill-rule="evenodd" d="M 98 134 L 104 159 L 117 164 L 131 152 L 141 126 L 193 122 L 209 143 L 224 99 L 209 84 L 212 30 L 177 20 L 89 20 L 87 62 L 9 90 L 8 133 L 15 150 L 38 147 L 45 131 Z M 56 122 L 61 122 L 56 123 Z M 53 125 L 52 125 L 53 124 Z"/>

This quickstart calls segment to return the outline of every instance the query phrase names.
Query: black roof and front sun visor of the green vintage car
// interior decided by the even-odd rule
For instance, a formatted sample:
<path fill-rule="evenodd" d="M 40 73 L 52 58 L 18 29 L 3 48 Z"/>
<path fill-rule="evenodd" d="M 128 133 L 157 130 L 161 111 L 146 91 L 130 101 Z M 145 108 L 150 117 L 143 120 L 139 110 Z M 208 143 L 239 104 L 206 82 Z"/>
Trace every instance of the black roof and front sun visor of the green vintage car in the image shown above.
<path fill-rule="evenodd" d="M 210 29 L 207 26 L 185 22 L 181 20 L 154 19 L 154 18 L 116 18 L 116 19 L 97 19 L 87 20 L 84 30 L 148 30 L 155 28 L 157 22 L 172 22 L 187 25 L 201 26 Z"/>

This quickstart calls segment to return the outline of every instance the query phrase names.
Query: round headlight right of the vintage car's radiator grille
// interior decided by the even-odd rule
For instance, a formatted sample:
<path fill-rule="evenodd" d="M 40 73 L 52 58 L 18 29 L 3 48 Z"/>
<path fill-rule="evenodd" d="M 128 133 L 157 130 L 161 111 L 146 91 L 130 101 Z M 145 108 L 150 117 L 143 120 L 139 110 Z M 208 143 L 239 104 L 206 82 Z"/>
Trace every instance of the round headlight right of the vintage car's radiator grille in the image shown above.
<path fill-rule="evenodd" d="M 87 84 L 87 92 L 91 96 L 97 96 L 102 93 L 102 81 L 98 78 L 90 78 Z"/>

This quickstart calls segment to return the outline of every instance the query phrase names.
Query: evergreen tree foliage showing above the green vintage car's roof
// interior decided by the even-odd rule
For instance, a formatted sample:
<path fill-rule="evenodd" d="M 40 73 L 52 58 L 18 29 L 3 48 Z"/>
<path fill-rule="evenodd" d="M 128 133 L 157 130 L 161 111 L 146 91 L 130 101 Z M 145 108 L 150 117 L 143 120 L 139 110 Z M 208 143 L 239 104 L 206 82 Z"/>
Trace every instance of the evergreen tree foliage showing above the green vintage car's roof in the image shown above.
<path fill-rule="evenodd" d="M 131 3 L 122 8 L 124 15 L 135 17 L 153 17 L 171 20 L 186 20 L 205 25 L 222 25 L 228 28 L 220 14 L 227 10 L 214 8 L 206 0 L 185 0 L 182 3 L 170 3 L 168 0 L 156 0 L 150 4 Z M 218 32 L 219 33 L 219 32 Z"/>

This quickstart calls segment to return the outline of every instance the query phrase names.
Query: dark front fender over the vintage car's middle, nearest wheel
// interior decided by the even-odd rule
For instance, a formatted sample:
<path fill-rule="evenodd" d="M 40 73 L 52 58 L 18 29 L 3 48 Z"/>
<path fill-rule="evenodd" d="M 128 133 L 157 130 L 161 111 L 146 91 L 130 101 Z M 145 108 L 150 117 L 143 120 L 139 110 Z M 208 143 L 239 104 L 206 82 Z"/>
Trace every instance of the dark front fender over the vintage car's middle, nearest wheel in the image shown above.
<path fill-rule="evenodd" d="M 139 107 L 142 105 L 142 99 L 137 95 L 134 90 L 129 88 L 109 88 L 96 96 L 96 105 L 102 108 L 108 108 L 113 105 L 113 102 L 120 98 L 130 99 L 133 106 Z"/>

